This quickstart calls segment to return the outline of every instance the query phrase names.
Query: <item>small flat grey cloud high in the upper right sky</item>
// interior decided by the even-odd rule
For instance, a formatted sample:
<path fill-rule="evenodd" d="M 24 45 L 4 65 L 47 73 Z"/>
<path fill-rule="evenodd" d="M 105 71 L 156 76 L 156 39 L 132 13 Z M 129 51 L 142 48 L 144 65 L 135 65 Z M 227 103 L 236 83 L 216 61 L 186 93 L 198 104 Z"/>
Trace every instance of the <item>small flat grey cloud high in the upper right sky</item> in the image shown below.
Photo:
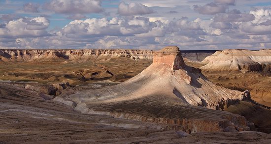
<path fill-rule="evenodd" d="M 207 15 L 213 15 L 213 14 L 217 14 L 217 13 L 225 13 L 227 8 L 228 8 L 228 5 L 217 4 L 214 2 L 207 3 L 203 6 L 194 5 L 194 10 L 196 12 L 199 12 L 200 14 L 207 14 Z"/>

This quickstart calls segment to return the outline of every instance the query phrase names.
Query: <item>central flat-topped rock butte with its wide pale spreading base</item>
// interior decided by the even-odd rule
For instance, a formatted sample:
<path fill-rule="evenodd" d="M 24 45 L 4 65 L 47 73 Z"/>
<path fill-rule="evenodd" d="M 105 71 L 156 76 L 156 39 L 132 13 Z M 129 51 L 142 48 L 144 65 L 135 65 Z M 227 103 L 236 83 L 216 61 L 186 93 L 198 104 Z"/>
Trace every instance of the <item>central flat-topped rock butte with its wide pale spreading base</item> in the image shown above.
<path fill-rule="evenodd" d="M 185 65 L 179 48 L 173 46 L 154 52 L 149 67 L 119 85 L 65 91 L 54 100 L 80 113 L 170 124 L 164 129 L 188 133 L 249 129 L 244 117 L 216 111 L 237 101 L 249 101 L 249 92 L 211 83 L 199 69 Z"/>

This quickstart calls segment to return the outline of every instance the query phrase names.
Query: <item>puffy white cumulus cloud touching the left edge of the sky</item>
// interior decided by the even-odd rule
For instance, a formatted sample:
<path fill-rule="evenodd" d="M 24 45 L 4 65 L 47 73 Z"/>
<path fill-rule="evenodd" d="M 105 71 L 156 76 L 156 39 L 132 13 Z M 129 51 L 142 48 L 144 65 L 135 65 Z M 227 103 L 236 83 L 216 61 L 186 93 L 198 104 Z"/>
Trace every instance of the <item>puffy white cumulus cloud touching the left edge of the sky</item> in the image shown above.
<path fill-rule="evenodd" d="M 1 38 L 23 38 L 23 37 L 42 37 L 48 36 L 46 29 L 49 20 L 44 17 L 20 18 L 9 21 L 0 29 Z"/>

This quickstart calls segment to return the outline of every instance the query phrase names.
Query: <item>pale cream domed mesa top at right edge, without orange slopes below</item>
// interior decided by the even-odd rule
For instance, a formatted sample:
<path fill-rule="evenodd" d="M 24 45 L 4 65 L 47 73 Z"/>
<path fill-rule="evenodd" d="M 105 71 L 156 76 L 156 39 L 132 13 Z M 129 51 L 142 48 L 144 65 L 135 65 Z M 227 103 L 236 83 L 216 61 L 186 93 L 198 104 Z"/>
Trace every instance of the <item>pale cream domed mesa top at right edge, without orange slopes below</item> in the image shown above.
<path fill-rule="evenodd" d="M 200 67 L 208 71 L 260 71 L 271 64 L 271 50 L 223 50 L 204 58 Z"/>

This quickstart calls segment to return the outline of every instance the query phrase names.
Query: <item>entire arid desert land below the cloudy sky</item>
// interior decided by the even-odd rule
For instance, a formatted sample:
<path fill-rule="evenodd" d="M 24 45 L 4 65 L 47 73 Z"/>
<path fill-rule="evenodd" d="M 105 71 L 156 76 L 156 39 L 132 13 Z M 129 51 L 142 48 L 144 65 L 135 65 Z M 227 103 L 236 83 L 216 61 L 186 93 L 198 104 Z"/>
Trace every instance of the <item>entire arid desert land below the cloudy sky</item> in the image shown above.
<path fill-rule="evenodd" d="M 0 80 L 3 143 L 271 142 L 271 50 L 0 50 Z"/>

